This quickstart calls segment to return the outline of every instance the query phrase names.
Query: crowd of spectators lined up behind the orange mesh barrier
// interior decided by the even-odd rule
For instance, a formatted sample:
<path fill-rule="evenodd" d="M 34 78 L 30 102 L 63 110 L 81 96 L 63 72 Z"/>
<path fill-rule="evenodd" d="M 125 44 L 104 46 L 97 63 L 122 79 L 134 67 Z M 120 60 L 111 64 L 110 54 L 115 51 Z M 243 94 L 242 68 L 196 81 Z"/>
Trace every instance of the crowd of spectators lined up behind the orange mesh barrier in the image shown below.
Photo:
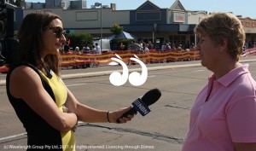
<path fill-rule="evenodd" d="M 243 46 L 243 51 L 242 54 L 245 53 L 246 49 L 250 49 L 256 47 L 256 42 L 249 42 L 249 43 L 245 43 Z M 193 42 L 189 42 L 187 41 L 187 43 L 185 44 L 180 44 L 180 43 L 171 43 L 168 40 L 166 40 L 165 42 L 159 44 L 158 46 L 155 46 L 151 41 L 143 41 L 143 40 L 132 40 L 130 44 L 125 45 L 122 42 L 120 42 L 119 44 L 111 44 L 111 50 L 114 51 L 120 51 L 120 50 L 134 50 L 137 51 L 139 53 L 145 53 L 148 52 L 150 49 L 154 49 L 154 50 L 158 50 L 158 51 L 168 51 L 168 50 L 176 50 L 176 51 L 180 51 L 180 52 L 184 52 L 184 51 L 189 51 L 191 49 L 197 49 L 195 47 L 195 44 Z M 73 52 L 76 54 L 101 54 L 101 48 L 99 46 L 98 43 L 95 43 L 94 45 L 90 45 L 90 44 L 85 44 L 84 47 L 82 49 L 80 49 L 79 47 L 75 47 L 75 49 L 70 48 L 67 44 L 67 42 L 65 42 L 64 48 L 61 50 L 62 53 L 67 53 L 67 52 Z M 145 63 L 163 63 L 163 62 L 173 62 L 173 61 L 194 61 L 194 60 L 198 60 L 199 58 L 183 58 L 183 59 L 177 59 L 177 60 L 170 60 L 170 59 L 165 59 L 165 60 L 155 60 L 155 61 L 146 61 Z M 86 68 L 86 67 L 98 67 L 99 66 L 99 62 L 96 61 L 97 59 L 94 59 L 94 61 L 90 62 L 90 63 L 86 63 L 84 65 L 74 65 L 73 68 Z M 128 63 L 129 64 L 129 63 Z"/>

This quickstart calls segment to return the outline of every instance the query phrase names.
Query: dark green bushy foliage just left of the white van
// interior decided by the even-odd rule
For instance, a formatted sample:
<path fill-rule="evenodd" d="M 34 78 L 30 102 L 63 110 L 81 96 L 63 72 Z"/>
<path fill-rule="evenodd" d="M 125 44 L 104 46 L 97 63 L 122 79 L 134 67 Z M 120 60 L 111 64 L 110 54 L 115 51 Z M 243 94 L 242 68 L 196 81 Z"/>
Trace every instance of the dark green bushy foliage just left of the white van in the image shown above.
<path fill-rule="evenodd" d="M 83 49 L 83 47 L 87 44 L 91 46 L 93 44 L 93 37 L 89 33 L 73 33 L 67 35 L 67 40 L 70 39 L 69 46 L 73 49 L 75 47 L 79 47 L 79 49 Z"/>

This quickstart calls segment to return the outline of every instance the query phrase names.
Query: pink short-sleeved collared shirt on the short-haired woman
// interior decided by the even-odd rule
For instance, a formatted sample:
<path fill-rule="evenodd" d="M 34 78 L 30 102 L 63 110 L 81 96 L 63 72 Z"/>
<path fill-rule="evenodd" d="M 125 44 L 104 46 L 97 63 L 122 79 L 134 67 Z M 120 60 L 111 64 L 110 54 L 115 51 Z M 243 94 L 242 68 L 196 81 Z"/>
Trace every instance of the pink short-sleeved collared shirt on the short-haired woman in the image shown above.
<path fill-rule="evenodd" d="M 248 67 L 209 78 L 191 109 L 183 151 L 235 151 L 233 142 L 256 142 L 256 83 Z"/>

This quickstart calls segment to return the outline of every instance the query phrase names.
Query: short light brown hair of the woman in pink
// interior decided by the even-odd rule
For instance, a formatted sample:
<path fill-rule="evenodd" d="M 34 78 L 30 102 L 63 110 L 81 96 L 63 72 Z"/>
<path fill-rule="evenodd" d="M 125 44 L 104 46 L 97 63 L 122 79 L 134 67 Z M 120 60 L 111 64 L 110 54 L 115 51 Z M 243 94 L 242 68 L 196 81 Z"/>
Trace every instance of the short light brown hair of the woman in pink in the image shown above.
<path fill-rule="evenodd" d="M 222 44 L 223 40 L 228 41 L 228 53 L 239 61 L 246 35 L 241 21 L 231 13 L 212 13 L 195 27 L 195 34 L 207 34 L 215 44 Z"/>

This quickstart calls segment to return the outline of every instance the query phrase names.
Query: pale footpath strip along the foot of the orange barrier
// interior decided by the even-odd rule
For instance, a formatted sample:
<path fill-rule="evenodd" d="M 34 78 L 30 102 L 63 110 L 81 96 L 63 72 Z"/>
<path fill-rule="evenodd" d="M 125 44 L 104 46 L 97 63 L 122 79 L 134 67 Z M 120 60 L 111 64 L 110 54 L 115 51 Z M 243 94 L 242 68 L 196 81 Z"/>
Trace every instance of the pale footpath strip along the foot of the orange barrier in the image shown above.
<path fill-rule="evenodd" d="M 256 55 L 241 57 L 241 63 L 253 62 L 256 61 Z M 182 67 L 199 67 L 201 66 L 201 61 L 177 61 L 177 62 L 168 62 L 168 63 L 152 63 L 146 64 L 148 71 L 155 70 L 165 70 L 165 69 L 173 69 L 173 68 L 182 68 Z M 128 65 L 129 72 L 141 72 L 140 65 Z M 122 73 L 122 67 L 120 66 L 99 66 L 99 67 L 88 67 L 84 69 L 72 69 L 72 68 L 62 68 L 61 77 L 63 79 L 71 79 L 71 78 L 88 78 L 88 77 L 96 77 L 96 76 L 106 76 L 113 73 L 113 71 L 117 71 Z M 5 85 L 6 74 L 0 73 L 0 86 Z"/>

